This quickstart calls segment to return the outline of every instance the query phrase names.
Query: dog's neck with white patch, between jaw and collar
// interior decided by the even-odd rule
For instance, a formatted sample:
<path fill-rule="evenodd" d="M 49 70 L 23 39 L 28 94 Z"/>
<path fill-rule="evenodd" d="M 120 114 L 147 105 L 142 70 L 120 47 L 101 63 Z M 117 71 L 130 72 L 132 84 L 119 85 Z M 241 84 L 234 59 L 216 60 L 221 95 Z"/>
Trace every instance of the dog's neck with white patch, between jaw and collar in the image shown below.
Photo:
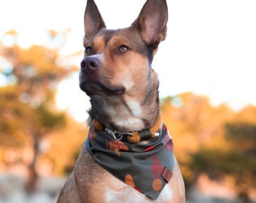
<path fill-rule="evenodd" d="M 90 97 L 94 117 L 108 129 L 119 132 L 138 132 L 149 129 L 160 114 L 159 81 L 151 69 L 145 89 L 123 95 L 93 95 Z"/>

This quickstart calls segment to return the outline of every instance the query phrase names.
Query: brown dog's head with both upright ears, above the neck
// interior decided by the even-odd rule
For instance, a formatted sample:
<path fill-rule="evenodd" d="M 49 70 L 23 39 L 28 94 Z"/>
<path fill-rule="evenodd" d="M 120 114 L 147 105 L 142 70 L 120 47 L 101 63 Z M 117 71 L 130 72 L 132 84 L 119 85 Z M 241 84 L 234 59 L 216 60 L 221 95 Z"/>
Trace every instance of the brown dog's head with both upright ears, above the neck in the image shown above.
<path fill-rule="evenodd" d="M 92 105 L 104 108 L 106 99 L 109 106 L 112 98 L 111 105 L 122 100 L 127 108 L 129 104 L 141 108 L 147 97 L 157 94 L 158 98 L 157 74 L 151 62 L 158 44 L 166 38 L 167 15 L 166 0 L 148 0 L 132 26 L 110 30 L 93 0 L 87 0 L 80 87 Z"/>

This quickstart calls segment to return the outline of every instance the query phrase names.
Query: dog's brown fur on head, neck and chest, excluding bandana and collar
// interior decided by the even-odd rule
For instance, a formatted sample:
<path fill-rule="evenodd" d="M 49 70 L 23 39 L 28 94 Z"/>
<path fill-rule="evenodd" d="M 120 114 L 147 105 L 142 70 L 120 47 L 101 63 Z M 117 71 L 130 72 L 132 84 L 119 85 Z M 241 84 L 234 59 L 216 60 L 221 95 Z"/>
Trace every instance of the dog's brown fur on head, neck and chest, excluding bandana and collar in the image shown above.
<path fill-rule="evenodd" d="M 166 38 L 166 1 L 148 0 L 132 26 L 108 30 L 93 0 L 88 0 L 84 21 L 80 86 L 90 96 L 94 117 L 119 132 L 149 129 L 160 114 L 159 82 L 151 62 Z M 152 200 L 105 171 L 84 144 L 57 202 L 182 203 L 184 182 L 175 160 L 171 180 Z"/>

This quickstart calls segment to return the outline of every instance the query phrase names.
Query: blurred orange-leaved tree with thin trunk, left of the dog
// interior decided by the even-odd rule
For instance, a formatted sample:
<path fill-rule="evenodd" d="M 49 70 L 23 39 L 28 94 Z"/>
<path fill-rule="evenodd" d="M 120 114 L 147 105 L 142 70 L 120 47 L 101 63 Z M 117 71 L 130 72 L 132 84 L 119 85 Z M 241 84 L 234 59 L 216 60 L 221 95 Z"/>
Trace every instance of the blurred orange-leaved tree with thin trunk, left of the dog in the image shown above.
<path fill-rule="evenodd" d="M 42 138 L 66 125 L 65 114 L 55 108 L 57 84 L 77 68 L 59 65 L 66 32 L 48 32 L 52 44 L 58 36 L 63 39 L 50 48 L 39 45 L 23 48 L 16 43 L 16 32 L 6 35 L 14 38 L 14 43 L 10 46 L 0 42 L 0 74 L 5 78 L 5 86 L 0 87 L 0 146 L 32 145 L 34 156 L 26 185 L 26 189 L 32 191 L 37 180 L 35 162 Z"/>

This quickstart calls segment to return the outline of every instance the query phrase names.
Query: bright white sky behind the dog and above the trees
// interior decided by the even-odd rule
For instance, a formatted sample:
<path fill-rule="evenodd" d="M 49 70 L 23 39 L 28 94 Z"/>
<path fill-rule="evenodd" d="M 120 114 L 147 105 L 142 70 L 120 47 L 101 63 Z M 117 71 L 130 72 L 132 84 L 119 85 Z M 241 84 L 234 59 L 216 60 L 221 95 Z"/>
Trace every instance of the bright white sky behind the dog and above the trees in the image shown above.
<path fill-rule="evenodd" d="M 96 0 L 108 29 L 130 26 L 144 3 Z M 152 65 L 160 78 L 160 97 L 190 91 L 235 110 L 256 105 L 256 1 L 167 0 L 167 5 L 167 38 Z M 27 47 L 45 44 L 49 29 L 70 29 L 65 51 L 82 50 L 85 6 L 86 0 L 0 1 L 0 39 L 16 29 L 19 44 Z M 79 89 L 78 73 L 60 83 L 56 98 L 59 108 L 86 119 L 81 110 L 90 105 Z"/>

